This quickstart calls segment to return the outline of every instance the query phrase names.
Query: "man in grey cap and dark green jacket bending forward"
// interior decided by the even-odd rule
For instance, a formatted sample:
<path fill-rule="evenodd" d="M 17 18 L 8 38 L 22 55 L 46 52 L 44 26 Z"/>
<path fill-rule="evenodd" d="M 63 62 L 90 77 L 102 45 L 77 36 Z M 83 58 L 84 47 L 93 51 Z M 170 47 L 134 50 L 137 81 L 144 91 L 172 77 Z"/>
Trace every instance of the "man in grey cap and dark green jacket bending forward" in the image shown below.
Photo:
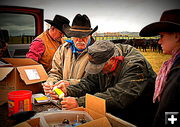
<path fill-rule="evenodd" d="M 102 40 L 88 47 L 88 57 L 88 75 L 79 84 L 59 86 L 66 96 L 62 107 L 85 106 L 89 93 L 106 100 L 107 112 L 138 127 L 151 126 L 156 74 L 144 56 L 130 45 Z"/>

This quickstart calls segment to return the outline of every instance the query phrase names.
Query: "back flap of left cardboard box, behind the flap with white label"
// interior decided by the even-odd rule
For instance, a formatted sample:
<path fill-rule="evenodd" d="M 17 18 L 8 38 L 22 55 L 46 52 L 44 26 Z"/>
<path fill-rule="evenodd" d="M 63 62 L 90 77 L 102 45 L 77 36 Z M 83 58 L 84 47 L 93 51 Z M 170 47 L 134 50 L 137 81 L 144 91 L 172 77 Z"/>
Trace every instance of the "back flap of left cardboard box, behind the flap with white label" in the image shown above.
<path fill-rule="evenodd" d="M 13 67 L 27 66 L 27 65 L 38 65 L 39 63 L 30 58 L 2 58 Z"/>

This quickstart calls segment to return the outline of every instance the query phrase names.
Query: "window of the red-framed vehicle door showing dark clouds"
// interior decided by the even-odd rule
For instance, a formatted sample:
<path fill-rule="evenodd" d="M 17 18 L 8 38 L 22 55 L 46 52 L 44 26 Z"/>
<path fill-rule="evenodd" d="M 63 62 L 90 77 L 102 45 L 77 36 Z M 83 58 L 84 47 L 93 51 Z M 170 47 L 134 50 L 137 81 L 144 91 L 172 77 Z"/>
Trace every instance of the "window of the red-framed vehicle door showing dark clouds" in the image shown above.
<path fill-rule="evenodd" d="M 36 36 L 35 17 L 29 14 L 0 13 L 0 28 L 8 30 L 9 44 L 29 44 Z"/>

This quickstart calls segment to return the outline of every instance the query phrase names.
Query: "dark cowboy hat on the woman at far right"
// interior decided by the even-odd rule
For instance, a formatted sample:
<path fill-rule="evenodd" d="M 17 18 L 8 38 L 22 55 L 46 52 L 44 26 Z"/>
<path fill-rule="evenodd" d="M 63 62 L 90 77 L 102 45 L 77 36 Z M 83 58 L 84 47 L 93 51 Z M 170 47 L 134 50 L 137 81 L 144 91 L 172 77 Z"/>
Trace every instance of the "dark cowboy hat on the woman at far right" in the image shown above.
<path fill-rule="evenodd" d="M 180 9 L 164 11 L 159 22 L 145 26 L 139 35 L 150 37 L 159 35 L 159 32 L 180 32 Z"/>

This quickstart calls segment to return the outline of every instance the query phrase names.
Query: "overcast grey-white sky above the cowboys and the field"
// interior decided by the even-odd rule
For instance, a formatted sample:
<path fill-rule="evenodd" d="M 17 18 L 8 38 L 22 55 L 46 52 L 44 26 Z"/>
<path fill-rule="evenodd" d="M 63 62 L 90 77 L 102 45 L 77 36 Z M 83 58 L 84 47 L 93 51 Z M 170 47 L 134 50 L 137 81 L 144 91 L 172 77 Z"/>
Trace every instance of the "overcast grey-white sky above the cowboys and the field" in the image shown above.
<path fill-rule="evenodd" d="M 98 32 L 139 32 L 164 10 L 180 8 L 180 0 L 1 0 L 0 5 L 42 8 L 44 19 L 59 14 L 71 23 L 76 14 L 86 14 Z"/>

